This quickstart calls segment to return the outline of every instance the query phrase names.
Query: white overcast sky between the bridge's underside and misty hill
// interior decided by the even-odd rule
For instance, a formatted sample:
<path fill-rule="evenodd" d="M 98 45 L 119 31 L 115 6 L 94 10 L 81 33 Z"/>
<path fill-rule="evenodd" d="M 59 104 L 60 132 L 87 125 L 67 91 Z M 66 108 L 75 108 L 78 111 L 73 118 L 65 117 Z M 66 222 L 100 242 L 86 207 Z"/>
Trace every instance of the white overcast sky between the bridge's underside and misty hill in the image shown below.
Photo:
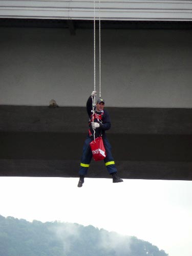
<path fill-rule="evenodd" d="M 192 256 L 192 182 L 0 177 L 0 215 L 93 225 Z"/>

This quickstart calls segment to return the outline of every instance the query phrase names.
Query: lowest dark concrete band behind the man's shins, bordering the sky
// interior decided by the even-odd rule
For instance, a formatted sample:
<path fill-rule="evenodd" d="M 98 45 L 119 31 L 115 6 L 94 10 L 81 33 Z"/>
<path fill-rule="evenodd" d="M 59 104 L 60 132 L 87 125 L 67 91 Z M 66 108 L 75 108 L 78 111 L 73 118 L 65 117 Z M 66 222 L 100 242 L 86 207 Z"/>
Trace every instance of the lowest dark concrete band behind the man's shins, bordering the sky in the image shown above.
<path fill-rule="evenodd" d="M 0 159 L 1 176 L 77 178 L 78 160 Z M 192 162 L 116 161 L 123 179 L 192 180 Z M 111 178 L 103 161 L 92 160 L 88 178 Z"/>

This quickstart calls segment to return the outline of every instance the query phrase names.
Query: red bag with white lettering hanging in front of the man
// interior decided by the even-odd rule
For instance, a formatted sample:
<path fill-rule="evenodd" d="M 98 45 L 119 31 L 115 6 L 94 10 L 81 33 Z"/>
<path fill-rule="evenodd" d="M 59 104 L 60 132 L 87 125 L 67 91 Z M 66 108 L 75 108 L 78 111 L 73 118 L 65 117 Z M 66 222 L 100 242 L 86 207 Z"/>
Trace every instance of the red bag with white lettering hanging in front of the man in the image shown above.
<path fill-rule="evenodd" d="M 106 152 L 101 136 L 90 142 L 90 146 L 95 161 L 103 160 L 106 157 Z"/>

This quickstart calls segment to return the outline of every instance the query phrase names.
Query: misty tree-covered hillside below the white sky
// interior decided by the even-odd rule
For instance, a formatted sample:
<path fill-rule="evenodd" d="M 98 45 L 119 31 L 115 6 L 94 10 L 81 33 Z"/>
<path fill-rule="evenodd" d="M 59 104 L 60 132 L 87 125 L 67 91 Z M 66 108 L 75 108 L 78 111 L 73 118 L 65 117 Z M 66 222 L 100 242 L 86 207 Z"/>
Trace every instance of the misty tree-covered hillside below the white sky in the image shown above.
<path fill-rule="evenodd" d="M 0 215 L 0 256 L 168 256 L 136 237 L 93 226 Z"/>

